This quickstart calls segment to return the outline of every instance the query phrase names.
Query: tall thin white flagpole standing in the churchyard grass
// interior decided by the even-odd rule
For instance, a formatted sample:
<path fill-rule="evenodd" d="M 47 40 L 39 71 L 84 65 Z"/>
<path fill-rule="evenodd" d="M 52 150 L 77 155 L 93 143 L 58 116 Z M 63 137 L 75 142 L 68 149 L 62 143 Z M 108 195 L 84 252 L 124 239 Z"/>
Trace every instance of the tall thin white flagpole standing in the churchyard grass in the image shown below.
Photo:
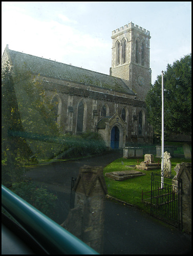
<path fill-rule="evenodd" d="M 163 188 L 163 166 L 164 166 L 164 106 L 163 106 L 163 70 L 161 72 L 162 79 L 161 79 L 161 97 L 162 97 L 162 113 L 161 113 L 161 188 Z"/>

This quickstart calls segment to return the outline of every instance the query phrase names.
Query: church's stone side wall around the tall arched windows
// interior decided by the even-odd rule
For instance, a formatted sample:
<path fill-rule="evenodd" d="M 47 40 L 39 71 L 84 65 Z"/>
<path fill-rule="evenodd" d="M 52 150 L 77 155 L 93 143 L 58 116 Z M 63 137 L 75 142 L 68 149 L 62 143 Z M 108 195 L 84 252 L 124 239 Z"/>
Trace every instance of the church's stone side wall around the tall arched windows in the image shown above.
<path fill-rule="evenodd" d="M 45 81 L 46 80 L 46 81 Z M 117 104 L 118 109 L 117 113 L 121 116 L 121 111 L 125 108 L 127 116 L 126 116 L 126 139 L 128 142 L 132 142 L 132 134 L 134 130 L 136 130 L 136 143 L 142 141 L 142 143 L 151 143 L 151 139 L 153 139 L 152 129 L 149 129 L 147 124 L 145 115 L 145 103 L 143 101 L 128 99 L 127 97 L 119 97 L 116 95 L 110 94 L 101 94 L 97 91 L 90 91 L 85 88 L 77 88 L 73 82 L 65 82 L 61 81 L 61 84 L 56 84 L 57 80 L 44 78 L 45 88 L 49 95 L 57 97 L 61 100 L 61 116 L 60 126 L 63 130 L 63 133 L 70 132 L 72 134 L 76 134 L 76 123 L 77 123 L 77 110 L 78 103 L 82 100 L 84 102 L 85 115 L 84 115 L 84 125 L 83 132 L 85 131 L 93 131 L 97 132 L 96 124 L 102 118 L 101 117 L 101 108 L 102 106 L 108 105 L 109 108 L 109 116 L 113 116 L 115 114 L 115 104 Z M 135 105 L 135 113 L 133 111 L 133 105 Z M 71 112 L 69 112 L 69 107 L 71 108 Z M 139 112 L 142 111 L 144 115 L 144 135 L 142 138 L 138 138 L 138 129 L 135 128 L 135 125 L 138 126 L 138 115 Z M 93 114 L 94 113 L 94 114 Z M 134 114 L 136 117 L 136 121 L 134 121 Z M 111 131 L 108 131 L 111 135 Z M 108 136 L 107 144 L 110 144 L 109 141 L 110 136 Z M 139 141 L 138 141 L 139 140 Z M 141 141 L 140 141 L 141 140 Z M 121 145 L 124 145 L 125 141 L 121 141 Z"/>

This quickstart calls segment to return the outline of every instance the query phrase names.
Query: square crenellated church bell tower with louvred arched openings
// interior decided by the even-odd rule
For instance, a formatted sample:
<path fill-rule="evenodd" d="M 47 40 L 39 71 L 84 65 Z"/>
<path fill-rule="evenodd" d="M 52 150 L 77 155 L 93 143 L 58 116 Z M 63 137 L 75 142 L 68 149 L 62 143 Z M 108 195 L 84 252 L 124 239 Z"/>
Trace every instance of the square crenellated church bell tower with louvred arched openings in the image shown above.
<path fill-rule="evenodd" d="M 151 88 L 152 71 L 149 67 L 150 32 L 129 23 L 112 32 L 112 68 L 110 75 L 127 80 L 136 98 L 144 100 Z"/>

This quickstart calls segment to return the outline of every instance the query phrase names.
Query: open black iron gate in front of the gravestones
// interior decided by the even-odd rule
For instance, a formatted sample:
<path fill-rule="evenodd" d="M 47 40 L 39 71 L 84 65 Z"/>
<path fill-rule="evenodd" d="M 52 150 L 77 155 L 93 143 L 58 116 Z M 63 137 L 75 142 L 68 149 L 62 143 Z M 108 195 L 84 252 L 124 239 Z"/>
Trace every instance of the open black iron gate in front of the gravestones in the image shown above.
<path fill-rule="evenodd" d="M 151 215 L 182 229 L 182 180 L 152 173 Z"/>

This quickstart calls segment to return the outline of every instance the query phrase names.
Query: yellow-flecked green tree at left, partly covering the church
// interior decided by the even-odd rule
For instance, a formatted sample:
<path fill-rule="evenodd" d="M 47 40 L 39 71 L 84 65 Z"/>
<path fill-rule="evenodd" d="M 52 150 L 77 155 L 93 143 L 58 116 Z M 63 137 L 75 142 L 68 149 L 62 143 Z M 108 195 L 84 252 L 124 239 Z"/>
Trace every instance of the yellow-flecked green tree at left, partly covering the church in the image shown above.
<path fill-rule="evenodd" d="M 59 135 L 55 106 L 40 79 L 25 67 L 2 67 L 2 180 L 17 182 L 34 156 L 51 158 Z"/>

